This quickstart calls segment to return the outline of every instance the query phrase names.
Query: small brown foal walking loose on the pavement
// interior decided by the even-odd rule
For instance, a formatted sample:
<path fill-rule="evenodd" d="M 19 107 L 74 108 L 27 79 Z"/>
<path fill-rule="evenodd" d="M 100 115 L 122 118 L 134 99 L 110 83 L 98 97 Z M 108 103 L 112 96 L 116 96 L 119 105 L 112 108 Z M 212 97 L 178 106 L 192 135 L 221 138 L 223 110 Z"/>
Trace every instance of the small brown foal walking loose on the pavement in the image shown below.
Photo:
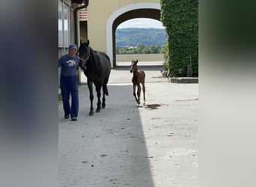
<path fill-rule="evenodd" d="M 145 73 L 142 70 L 138 70 L 137 67 L 138 64 L 138 60 L 137 61 L 133 61 L 132 60 L 132 64 L 131 64 L 131 69 L 129 70 L 130 73 L 133 73 L 132 76 L 132 83 L 133 83 L 133 96 L 135 97 L 135 100 L 137 102 L 138 105 L 141 104 L 141 85 L 142 85 L 142 90 L 143 90 L 143 96 L 144 96 L 144 103 L 145 104 Z M 137 96 L 136 97 L 136 87 L 137 87 Z"/>

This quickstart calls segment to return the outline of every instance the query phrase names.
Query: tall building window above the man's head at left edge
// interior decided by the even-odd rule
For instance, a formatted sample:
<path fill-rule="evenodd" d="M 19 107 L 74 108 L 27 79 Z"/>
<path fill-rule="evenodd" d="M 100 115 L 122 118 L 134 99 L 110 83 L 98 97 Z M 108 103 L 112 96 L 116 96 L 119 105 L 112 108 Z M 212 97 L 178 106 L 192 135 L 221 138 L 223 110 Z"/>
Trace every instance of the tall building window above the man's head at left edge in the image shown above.
<path fill-rule="evenodd" d="M 58 47 L 70 44 L 70 7 L 58 0 Z"/>

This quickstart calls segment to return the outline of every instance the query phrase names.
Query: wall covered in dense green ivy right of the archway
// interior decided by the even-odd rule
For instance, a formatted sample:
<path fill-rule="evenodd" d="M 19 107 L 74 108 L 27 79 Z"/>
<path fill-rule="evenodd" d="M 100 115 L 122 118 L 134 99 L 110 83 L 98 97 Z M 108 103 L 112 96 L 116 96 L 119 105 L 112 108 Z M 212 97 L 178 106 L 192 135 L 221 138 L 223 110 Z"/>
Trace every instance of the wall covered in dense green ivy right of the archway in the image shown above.
<path fill-rule="evenodd" d="M 161 0 L 169 76 L 198 77 L 198 0 Z"/>

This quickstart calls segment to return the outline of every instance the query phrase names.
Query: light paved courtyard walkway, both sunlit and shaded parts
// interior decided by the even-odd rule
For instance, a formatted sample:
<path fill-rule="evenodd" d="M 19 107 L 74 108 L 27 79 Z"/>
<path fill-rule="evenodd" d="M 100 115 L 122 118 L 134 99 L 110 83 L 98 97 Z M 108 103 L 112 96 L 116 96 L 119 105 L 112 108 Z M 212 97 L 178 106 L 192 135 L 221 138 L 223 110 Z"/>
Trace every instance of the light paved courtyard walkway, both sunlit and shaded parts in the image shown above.
<path fill-rule="evenodd" d="M 59 186 L 198 186 L 198 84 L 171 83 L 161 67 L 141 68 L 144 106 L 136 106 L 126 66 L 112 70 L 100 113 L 88 115 L 86 85 L 77 121 L 64 120 L 59 103 Z"/>

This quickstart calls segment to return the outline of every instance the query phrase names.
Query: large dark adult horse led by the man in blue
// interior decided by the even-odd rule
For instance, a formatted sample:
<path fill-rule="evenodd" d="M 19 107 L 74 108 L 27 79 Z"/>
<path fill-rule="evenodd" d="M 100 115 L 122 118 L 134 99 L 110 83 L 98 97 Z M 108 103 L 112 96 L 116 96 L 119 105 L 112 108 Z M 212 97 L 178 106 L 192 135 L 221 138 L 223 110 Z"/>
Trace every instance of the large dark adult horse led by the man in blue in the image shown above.
<path fill-rule="evenodd" d="M 104 52 L 95 51 L 90 46 L 90 41 L 88 40 L 87 43 L 82 43 L 80 41 L 79 46 L 79 67 L 85 73 L 87 77 L 87 84 L 90 91 L 90 101 L 91 101 L 91 108 L 90 108 L 90 115 L 94 114 L 94 94 L 93 94 L 93 84 L 96 87 L 97 91 L 97 109 L 96 112 L 100 112 L 101 110 L 101 101 L 100 101 L 100 91 L 103 88 L 103 103 L 102 108 L 106 107 L 106 99 L 105 95 L 109 95 L 109 91 L 107 88 L 107 83 L 109 82 L 109 75 L 111 71 L 111 64 L 109 60 L 109 56 L 106 55 Z"/>

